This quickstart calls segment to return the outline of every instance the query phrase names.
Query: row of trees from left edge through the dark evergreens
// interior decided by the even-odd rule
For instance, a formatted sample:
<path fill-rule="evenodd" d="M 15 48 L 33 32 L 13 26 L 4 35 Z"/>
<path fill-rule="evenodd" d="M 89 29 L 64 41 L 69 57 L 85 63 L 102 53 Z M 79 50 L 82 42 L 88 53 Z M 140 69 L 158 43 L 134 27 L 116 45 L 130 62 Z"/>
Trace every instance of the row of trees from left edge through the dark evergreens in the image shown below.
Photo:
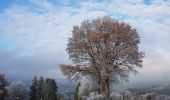
<path fill-rule="evenodd" d="M 57 88 L 54 79 L 42 76 L 34 76 L 30 87 L 20 81 L 7 84 L 5 75 L 0 73 L 0 100 L 59 100 Z"/>

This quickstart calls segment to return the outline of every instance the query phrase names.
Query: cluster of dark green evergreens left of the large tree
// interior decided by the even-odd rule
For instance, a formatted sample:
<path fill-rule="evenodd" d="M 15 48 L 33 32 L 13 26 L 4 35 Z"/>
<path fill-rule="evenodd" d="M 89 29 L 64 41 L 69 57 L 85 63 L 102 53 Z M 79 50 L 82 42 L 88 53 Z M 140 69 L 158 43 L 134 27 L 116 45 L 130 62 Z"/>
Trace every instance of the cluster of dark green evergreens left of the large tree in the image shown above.
<path fill-rule="evenodd" d="M 57 100 L 57 84 L 54 79 L 44 80 L 41 76 L 37 80 L 34 77 L 30 90 L 30 100 Z"/>

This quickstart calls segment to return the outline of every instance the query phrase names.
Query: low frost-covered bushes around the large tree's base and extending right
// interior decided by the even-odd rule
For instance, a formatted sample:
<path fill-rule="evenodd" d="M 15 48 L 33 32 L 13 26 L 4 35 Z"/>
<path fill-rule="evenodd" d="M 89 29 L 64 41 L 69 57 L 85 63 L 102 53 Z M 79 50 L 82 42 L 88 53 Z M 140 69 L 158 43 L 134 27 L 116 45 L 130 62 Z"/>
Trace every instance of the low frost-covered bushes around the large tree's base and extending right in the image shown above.
<path fill-rule="evenodd" d="M 113 84 L 114 85 L 114 84 Z M 166 85 L 162 88 L 169 88 L 169 85 Z M 90 78 L 86 77 L 81 81 L 78 91 L 78 99 L 76 100 L 108 100 L 108 98 L 99 94 L 98 85 L 96 82 Z M 155 88 L 138 90 L 130 92 L 129 90 L 113 90 L 109 95 L 109 100 L 170 100 L 170 96 L 166 94 L 161 94 L 160 90 L 155 90 Z M 167 92 L 170 92 L 167 91 Z"/>

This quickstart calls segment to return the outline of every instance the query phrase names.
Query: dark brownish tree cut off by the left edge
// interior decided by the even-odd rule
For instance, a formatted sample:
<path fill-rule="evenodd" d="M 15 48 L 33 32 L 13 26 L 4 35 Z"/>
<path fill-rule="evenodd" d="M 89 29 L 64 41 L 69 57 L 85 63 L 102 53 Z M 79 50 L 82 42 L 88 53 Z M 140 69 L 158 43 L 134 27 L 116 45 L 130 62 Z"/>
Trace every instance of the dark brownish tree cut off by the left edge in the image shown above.
<path fill-rule="evenodd" d="M 5 75 L 0 73 L 0 100 L 4 100 L 7 96 L 7 90 L 5 89 L 6 85 Z"/>

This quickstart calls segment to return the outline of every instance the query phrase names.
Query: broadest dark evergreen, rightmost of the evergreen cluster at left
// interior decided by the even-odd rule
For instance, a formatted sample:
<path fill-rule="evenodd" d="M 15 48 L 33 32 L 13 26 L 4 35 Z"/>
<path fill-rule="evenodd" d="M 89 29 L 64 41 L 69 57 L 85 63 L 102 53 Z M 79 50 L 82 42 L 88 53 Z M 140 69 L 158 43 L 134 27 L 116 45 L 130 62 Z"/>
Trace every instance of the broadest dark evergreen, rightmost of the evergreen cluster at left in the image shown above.
<path fill-rule="evenodd" d="M 44 100 L 57 99 L 57 84 L 54 79 L 47 78 L 45 81 L 45 97 Z"/>

